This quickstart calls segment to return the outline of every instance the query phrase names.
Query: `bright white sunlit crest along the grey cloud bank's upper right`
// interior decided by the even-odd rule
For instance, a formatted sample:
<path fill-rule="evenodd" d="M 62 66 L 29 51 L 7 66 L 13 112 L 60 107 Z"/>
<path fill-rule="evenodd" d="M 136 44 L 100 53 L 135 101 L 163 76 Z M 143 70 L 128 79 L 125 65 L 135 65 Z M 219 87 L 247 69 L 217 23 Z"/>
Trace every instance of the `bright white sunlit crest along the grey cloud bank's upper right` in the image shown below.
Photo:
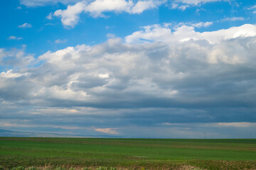
<path fill-rule="evenodd" d="M 199 33 L 191 26 L 181 26 L 171 30 L 160 25 L 145 26 L 144 30 L 139 30 L 128 35 L 125 39 L 128 43 L 140 42 L 144 40 L 154 40 L 160 42 L 176 43 L 183 40 L 207 40 L 210 43 L 217 43 L 239 37 L 253 37 L 256 35 L 256 26 L 245 24 L 240 27 L 233 27 L 226 30 L 216 30 L 213 32 Z"/>

